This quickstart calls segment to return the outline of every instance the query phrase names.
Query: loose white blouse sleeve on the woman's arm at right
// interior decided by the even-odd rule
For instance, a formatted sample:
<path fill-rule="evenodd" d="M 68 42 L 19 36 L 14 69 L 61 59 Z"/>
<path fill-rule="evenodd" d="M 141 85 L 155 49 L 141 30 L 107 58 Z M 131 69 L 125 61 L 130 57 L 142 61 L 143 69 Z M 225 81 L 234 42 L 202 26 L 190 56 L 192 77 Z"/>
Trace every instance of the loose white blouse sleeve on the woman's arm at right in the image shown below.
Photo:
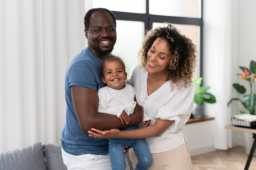
<path fill-rule="evenodd" d="M 177 90 L 176 94 L 157 112 L 155 118 L 162 120 L 174 120 L 171 131 L 180 129 L 189 120 L 194 102 L 194 86 L 190 85 L 182 90 Z"/>

